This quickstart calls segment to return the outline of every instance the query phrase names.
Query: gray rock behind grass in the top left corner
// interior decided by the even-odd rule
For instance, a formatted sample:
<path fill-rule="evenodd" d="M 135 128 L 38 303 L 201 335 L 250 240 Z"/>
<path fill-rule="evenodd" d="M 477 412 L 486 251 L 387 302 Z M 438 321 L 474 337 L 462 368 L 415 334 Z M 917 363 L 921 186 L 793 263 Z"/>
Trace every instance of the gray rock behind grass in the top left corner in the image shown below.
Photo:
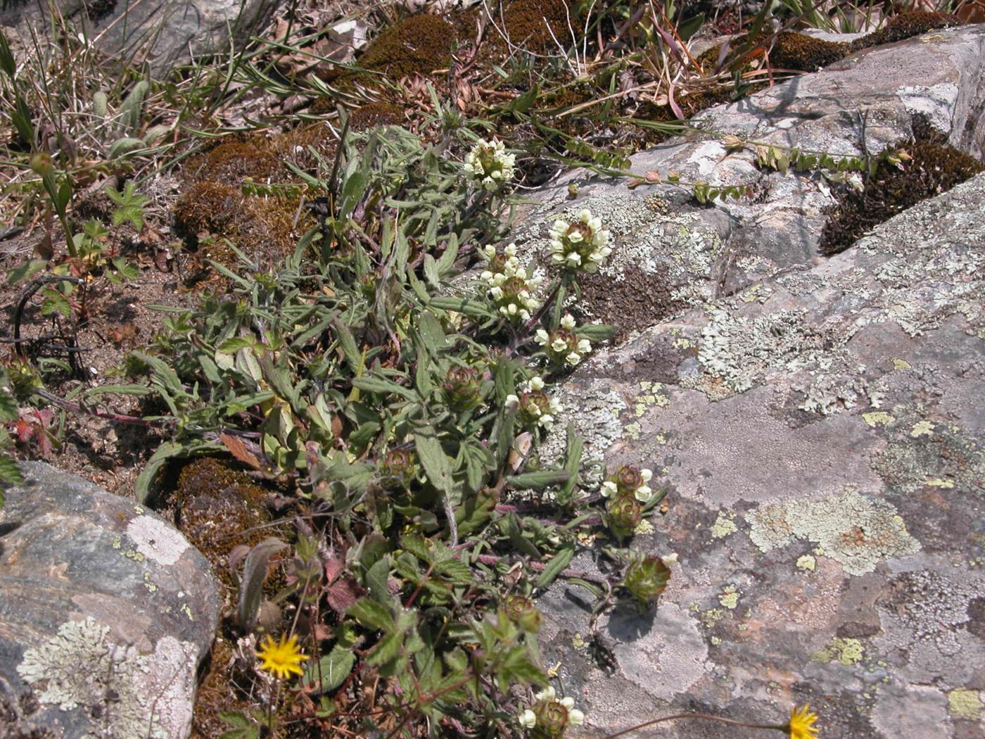
<path fill-rule="evenodd" d="M 130 58 L 138 50 L 142 54 L 147 52 L 152 70 L 161 76 L 191 57 L 228 50 L 230 28 L 240 41 L 250 34 L 259 34 L 278 1 L 56 0 L 55 6 L 61 17 L 106 54 Z M 47 3 L 9 0 L 0 9 L 0 27 L 14 29 L 25 48 L 32 47 L 29 29 L 35 34 L 45 34 L 50 26 Z M 143 60 L 141 56 L 133 66 L 139 66 Z"/>

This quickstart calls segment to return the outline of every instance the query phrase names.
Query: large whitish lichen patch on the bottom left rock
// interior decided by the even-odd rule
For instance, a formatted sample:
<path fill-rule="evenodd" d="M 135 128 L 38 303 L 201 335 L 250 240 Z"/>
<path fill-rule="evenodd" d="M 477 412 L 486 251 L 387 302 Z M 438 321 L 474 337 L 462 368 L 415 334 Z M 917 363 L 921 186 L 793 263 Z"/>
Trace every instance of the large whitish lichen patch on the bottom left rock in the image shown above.
<path fill-rule="evenodd" d="M 147 659 L 107 640 L 108 634 L 109 627 L 92 617 L 66 622 L 54 637 L 24 652 L 17 672 L 41 705 L 87 710 L 93 736 L 166 739 L 149 697 L 140 694 Z M 110 700 L 111 711 L 106 710 Z"/>

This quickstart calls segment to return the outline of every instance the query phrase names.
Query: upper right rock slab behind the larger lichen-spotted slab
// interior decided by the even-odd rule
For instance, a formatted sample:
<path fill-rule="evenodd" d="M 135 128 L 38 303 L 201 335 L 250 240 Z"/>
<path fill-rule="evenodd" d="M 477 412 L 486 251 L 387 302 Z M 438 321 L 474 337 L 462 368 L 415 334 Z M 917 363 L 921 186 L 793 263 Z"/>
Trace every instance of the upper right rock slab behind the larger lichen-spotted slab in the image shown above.
<path fill-rule="evenodd" d="M 522 214 L 513 238 L 528 258 L 543 261 L 558 214 L 588 208 L 602 216 L 616 236 L 615 250 L 601 275 L 587 281 L 581 306 L 604 320 L 622 309 L 624 327 L 636 330 L 683 307 L 809 269 L 819 257 L 826 210 L 835 204 L 821 173 L 757 168 L 755 152 L 730 152 L 719 136 L 860 156 L 910 137 L 913 116 L 922 114 L 952 146 L 981 157 L 983 110 L 985 26 L 878 46 L 709 108 L 698 116 L 709 133 L 674 138 L 631 158 L 635 173 L 677 171 L 683 181 L 744 185 L 751 198 L 699 206 L 683 187 L 629 189 L 624 179 L 575 170 L 532 193 L 540 205 Z M 579 185 L 574 198 L 572 182 Z M 627 310 L 637 303 L 645 307 Z"/>

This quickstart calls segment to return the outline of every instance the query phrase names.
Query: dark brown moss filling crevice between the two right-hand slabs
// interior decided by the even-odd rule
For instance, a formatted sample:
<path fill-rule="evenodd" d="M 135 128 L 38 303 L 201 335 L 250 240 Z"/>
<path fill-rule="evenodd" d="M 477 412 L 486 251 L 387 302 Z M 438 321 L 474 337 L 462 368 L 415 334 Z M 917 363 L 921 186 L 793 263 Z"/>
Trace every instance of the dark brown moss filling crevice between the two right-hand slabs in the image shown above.
<path fill-rule="evenodd" d="M 883 162 L 863 192 L 851 190 L 838 197 L 821 231 L 821 254 L 830 256 L 844 251 L 897 213 L 985 171 L 982 163 L 944 143 L 919 119 L 914 132 L 917 140 L 900 141 L 893 147 L 905 151 L 910 161 L 902 163 L 901 168 Z"/>

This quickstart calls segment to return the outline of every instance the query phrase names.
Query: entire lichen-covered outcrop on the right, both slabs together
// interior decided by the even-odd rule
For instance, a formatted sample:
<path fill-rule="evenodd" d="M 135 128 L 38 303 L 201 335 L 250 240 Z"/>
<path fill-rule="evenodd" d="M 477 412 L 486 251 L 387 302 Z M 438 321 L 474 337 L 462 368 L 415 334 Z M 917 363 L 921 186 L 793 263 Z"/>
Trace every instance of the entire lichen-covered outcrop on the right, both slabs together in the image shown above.
<path fill-rule="evenodd" d="M 983 49 L 983 27 L 936 32 L 706 120 L 857 153 L 864 111 L 877 152 L 918 110 L 980 157 Z M 671 141 L 632 169 L 748 182 L 758 199 L 698 208 L 669 186 L 573 173 L 578 197 L 565 179 L 520 228 L 528 258 L 566 209 L 617 236 L 584 301 L 632 330 L 562 386 L 544 453 L 570 421 L 587 463 L 652 468 L 668 507 L 633 548 L 680 558 L 655 612 L 617 608 L 597 639 L 584 591 L 558 582 L 541 599 L 545 661 L 585 711 L 580 735 L 681 710 L 783 723 L 810 703 L 824 739 L 982 736 L 985 174 L 824 259 L 816 174 L 760 171 L 710 139 Z M 685 720 L 628 736 L 657 728 L 763 736 Z"/>

